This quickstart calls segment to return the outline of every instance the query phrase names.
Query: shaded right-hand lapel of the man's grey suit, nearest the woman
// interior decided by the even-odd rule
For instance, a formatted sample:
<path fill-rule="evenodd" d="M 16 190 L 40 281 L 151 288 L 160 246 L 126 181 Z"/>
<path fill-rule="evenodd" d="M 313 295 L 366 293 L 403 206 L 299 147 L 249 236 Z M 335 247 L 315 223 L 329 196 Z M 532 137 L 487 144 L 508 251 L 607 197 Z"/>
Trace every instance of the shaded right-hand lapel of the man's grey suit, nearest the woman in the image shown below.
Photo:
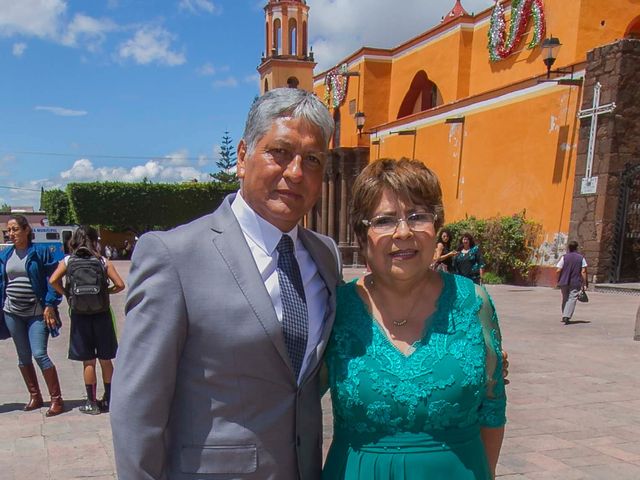
<path fill-rule="evenodd" d="M 329 292 L 329 298 L 327 299 L 327 310 L 323 319 L 322 334 L 320 341 L 315 348 L 314 355 L 309 360 L 309 365 L 304 372 L 304 383 L 311 374 L 315 371 L 316 367 L 322 359 L 325 347 L 329 341 L 331 335 L 331 328 L 333 327 L 333 321 L 335 318 L 336 310 L 336 286 L 338 284 L 338 269 L 336 265 L 336 258 L 331 252 L 330 248 L 322 242 L 319 238 L 314 236 L 311 232 L 304 228 L 298 229 L 298 235 L 302 240 L 305 248 L 313 258 L 313 261 L 318 268 L 318 273 L 324 281 L 327 291 Z"/>

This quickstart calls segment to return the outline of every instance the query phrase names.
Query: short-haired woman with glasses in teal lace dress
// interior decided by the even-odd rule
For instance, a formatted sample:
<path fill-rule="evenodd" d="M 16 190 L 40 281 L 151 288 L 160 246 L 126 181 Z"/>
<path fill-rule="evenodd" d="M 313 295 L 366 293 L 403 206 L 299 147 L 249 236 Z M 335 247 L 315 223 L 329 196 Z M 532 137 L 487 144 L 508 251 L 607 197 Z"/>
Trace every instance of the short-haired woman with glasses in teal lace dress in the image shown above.
<path fill-rule="evenodd" d="M 422 163 L 382 159 L 353 187 L 370 273 L 338 291 L 326 354 L 326 480 L 489 480 L 502 445 L 501 337 L 486 291 L 429 268 L 442 193 Z"/>

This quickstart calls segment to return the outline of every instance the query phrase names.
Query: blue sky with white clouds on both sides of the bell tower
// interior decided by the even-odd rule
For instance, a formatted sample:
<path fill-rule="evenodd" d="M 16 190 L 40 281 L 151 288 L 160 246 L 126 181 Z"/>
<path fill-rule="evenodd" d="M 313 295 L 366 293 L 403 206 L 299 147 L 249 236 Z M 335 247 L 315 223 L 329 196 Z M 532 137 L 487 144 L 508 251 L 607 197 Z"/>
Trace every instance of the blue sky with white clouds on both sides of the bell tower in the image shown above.
<path fill-rule="evenodd" d="M 427 30 L 455 0 L 307 3 L 321 72 Z M 0 0 L 0 186 L 15 187 L 0 203 L 37 208 L 41 187 L 72 181 L 206 180 L 259 92 L 265 4 Z"/>

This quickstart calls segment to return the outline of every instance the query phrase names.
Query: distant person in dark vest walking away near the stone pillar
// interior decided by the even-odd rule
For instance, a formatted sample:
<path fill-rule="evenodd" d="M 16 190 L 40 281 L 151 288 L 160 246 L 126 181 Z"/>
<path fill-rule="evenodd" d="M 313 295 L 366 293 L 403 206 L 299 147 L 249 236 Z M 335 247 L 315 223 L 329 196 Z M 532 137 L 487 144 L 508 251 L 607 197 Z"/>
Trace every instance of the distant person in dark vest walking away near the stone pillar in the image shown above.
<path fill-rule="evenodd" d="M 587 261 L 578 253 L 578 242 L 572 240 L 558 264 L 558 287 L 562 292 L 562 321 L 567 325 L 571 321 L 581 290 L 589 286 L 587 280 Z"/>

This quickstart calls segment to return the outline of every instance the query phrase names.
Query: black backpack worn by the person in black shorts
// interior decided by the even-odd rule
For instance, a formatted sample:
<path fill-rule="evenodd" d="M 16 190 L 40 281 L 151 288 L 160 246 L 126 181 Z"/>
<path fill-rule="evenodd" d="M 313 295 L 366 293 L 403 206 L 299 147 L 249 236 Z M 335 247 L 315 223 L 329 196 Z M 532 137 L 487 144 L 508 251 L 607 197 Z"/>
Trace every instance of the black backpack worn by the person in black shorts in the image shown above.
<path fill-rule="evenodd" d="M 67 301 L 73 313 L 92 315 L 109 310 L 109 280 L 102 258 L 79 248 L 67 262 Z"/>

